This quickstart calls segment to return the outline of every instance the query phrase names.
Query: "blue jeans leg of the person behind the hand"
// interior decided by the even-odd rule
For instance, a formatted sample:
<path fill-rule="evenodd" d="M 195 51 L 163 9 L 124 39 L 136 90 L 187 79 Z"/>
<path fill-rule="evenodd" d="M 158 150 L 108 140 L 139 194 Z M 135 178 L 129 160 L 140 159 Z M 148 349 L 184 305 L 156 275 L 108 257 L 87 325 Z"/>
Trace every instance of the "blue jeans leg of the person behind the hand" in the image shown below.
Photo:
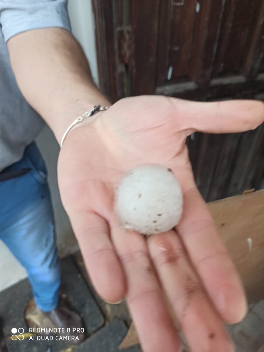
<path fill-rule="evenodd" d="M 0 239 L 26 269 L 37 306 L 49 312 L 58 304 L 60 266 L 47 171 L 36 143 L 4 172 L 24 168 L 32 170 L 0 182 Z"/>

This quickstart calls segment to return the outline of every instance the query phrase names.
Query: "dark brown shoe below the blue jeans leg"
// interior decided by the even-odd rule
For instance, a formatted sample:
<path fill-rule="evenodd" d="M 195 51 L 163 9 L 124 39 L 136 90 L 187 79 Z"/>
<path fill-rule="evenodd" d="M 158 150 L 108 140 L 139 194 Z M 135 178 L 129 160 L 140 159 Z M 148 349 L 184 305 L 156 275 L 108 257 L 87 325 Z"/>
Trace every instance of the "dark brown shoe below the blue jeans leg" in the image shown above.
<path fill-rule="evenodd" d="M 85 339 L 83 332 L 82 318 L 73 310 L 67 308 L 64 303 L 60 303 L 57 308 L 51 312 L 45 313 L 47 318 L 57 328 L 64 328 L 64 336 L 74 336 L 73 344 L 79 344 Z M 67 331 L 68 330 L 68 331 Z"/>

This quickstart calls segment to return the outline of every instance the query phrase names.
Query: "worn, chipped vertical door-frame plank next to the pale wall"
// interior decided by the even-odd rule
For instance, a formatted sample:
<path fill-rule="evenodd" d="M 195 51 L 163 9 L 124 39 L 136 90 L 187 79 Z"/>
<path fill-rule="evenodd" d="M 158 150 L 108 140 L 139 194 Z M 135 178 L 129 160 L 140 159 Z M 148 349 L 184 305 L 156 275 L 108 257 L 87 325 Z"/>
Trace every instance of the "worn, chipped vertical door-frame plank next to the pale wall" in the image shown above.
<path fill-rule="evenodd" d="M 122 38 L 129 31 L 129 0 L 92 0 L 92 5 L 99 86 L 115 102 L 126 95 L 127 63 L 122 57 Z"/>

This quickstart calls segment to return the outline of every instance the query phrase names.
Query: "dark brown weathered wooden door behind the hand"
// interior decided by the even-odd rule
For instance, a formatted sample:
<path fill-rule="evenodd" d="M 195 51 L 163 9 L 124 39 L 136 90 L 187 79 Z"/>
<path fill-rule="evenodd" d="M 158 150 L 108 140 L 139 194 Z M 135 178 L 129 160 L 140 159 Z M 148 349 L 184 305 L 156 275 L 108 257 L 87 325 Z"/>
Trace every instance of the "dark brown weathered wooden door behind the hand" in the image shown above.
<path fill-rule="evenodd" d="M 164 94 L 264 100 L 263 0 L 93 0 L 100 86 L 114 102 Z M 187 140 L 207 201 L 256 187 L 264 128 Z"/>

